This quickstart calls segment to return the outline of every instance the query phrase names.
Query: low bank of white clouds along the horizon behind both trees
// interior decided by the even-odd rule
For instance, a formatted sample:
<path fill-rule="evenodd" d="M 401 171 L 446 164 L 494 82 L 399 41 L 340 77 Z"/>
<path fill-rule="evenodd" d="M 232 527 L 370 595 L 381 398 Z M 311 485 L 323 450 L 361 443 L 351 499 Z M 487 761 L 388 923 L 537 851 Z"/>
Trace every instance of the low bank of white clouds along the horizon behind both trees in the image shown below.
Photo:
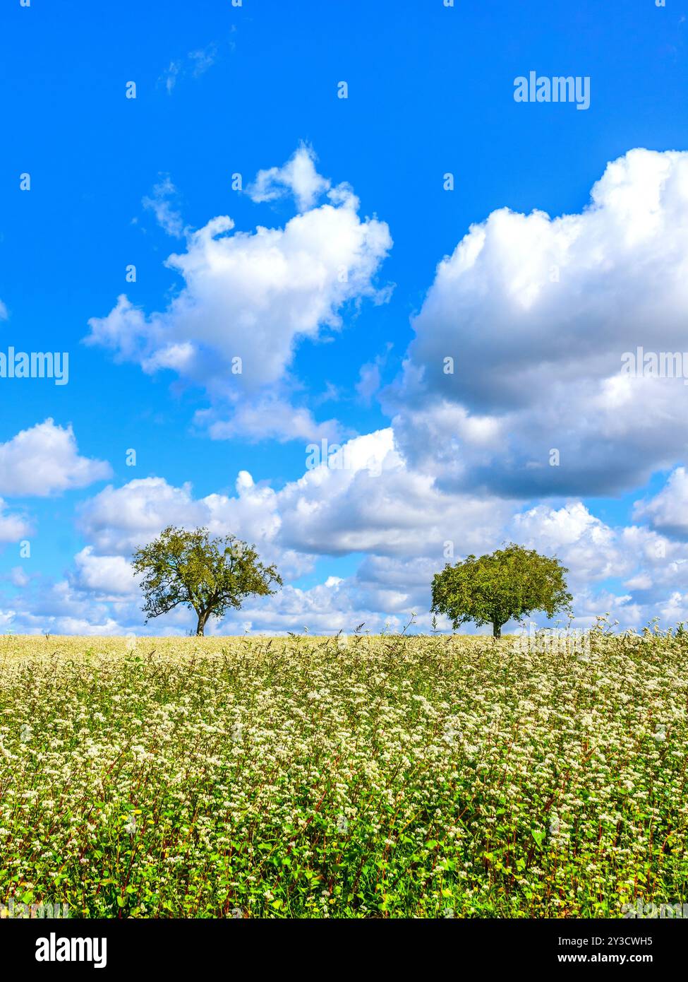
<path fill-rule="evenodd" d="M 507 541 L 556 555 L 569 568 L 578 627 L 605 612 L 622 627 L 642 627 L 654 616 L 680 614 L 688 596 L 688 543 L 647 526 L 612 527 L 580 501 L 523 508 L 499 497 L 443 491 L 403 459 L 393 432 L 384 429 L 348 441 L 280 489 L 256 484 L 246 471 L 238 473 L 233 495 L 194 498 L 190 485 L 174 487 L 160 477 L 106 487 L 81 509 L 87 545 L 68 579 L 49 588 L 16 582 L 26 589 L 8 601 L 13 625 L 57 630 L 88 622 L 107 632 L 115 625 L 140 632 L 129 559 L 168 523 L 235 532 L 285 576 L 277 595 L 249 598 L 212 627 L 222 633 L 332 632 L 360 623 L 398 629 L 412 612 L 416 627 L 428 629 L 433 574 L 468 552 L 492 551 Z M 320 557 L 337 562 L 359 553 L 365 556 L 354 573 L 330 575 L 308 588 L 294 582 L 315 573 Z M 620 591 L 609 585 L 619 580 Z M 189 618 L 178 611 L 145 629 L 184 633 Z"/>

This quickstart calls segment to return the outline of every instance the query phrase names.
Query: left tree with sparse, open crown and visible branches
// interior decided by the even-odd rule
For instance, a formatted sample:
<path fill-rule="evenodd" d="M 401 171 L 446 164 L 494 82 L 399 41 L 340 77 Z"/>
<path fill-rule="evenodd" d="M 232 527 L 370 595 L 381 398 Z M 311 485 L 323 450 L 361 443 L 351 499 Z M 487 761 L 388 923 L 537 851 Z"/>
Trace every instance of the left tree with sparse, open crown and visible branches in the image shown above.
<path fill-rule="evenodd" d="M 134 552 L 132 567 L 143 575 L 146 623 L 186 604 L 198 617 L 196 634 L 203 633 L 209 617 L 238 609 L 251 594 L 275 593 L 273 584 L 282 586 L 276 568 L 263 566 L 254 546 L 234 535 L 211 538 L 207 528 L 186 531 L 168 525 Z"/>

